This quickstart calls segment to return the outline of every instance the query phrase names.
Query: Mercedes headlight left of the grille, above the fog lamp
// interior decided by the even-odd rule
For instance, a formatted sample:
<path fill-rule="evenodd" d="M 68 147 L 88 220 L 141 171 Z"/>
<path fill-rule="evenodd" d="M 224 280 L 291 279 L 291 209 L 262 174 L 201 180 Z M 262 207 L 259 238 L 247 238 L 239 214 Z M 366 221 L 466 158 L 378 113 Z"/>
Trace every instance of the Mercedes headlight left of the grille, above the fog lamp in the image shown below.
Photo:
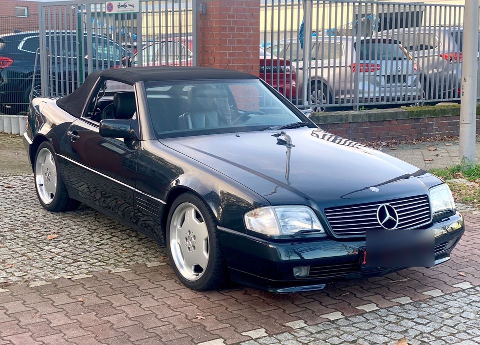
<path fill-rule="evenodd" d="M 307 206 L 267 206 L 245 213 L 248 230 L 269 236 L 293 235 L 298 231 L 324 230 L 315 213 Z"/>

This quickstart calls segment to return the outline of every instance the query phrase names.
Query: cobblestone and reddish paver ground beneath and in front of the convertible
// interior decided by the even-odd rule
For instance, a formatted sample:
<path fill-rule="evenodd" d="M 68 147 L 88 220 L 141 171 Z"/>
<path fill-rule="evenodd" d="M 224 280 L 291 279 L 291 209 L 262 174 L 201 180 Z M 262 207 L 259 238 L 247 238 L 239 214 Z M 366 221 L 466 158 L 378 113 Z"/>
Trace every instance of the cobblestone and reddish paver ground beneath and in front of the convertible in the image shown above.
<path fill-rule="evenodd" d="M 431 269 L 302 294 L 199 293 L 152 240 L 87 207 L 47 213 L 32 176 L 10 175 L 0 183 L 0 345 L 480 344 L 476 210 L 451 260 Z"/>

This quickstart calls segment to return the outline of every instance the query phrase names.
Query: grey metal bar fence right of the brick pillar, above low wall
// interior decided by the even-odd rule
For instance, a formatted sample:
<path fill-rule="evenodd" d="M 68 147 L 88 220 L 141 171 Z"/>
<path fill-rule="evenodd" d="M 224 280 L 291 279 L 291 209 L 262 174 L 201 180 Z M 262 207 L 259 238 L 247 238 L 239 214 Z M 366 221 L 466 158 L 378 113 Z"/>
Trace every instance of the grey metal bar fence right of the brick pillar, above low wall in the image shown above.
<path fill-rule="evenodd" d="M 260 10 L 260 75 L 298 107 L 460 99 L 461 5 L 261 0 Z"/>

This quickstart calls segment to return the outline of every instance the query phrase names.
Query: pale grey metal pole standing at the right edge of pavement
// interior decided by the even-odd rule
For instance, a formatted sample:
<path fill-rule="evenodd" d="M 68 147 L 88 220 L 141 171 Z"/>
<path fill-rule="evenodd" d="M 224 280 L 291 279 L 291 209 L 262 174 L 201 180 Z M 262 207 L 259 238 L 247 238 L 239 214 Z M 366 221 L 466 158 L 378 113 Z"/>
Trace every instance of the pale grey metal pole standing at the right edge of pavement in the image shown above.
<path fill-rule="evenodd" d="M 477 54 L 478 0 L 468 0 L 463 12 L 459 152 L 465 166 L 475 163 Z"/>

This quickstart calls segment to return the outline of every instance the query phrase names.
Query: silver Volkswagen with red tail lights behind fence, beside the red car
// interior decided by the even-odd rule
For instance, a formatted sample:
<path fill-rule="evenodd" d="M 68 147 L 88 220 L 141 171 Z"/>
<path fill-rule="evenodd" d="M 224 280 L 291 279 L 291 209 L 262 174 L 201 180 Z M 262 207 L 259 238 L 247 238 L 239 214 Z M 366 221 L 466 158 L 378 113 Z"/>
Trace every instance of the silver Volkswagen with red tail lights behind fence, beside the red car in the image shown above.
<path fill-rule="evenodd" d="M 299 98 L 307 87 L 316 110 L 350 103 L 417 103 L 424 99 L 421 78 L 413 57 L 396 40 L 346 36 L 315 36 L 304 66 L 303 50 L 297 40 L 284 40 L 266 50 L 291 61 L 293 67 L 309 71 L 300 85 Z"/>

